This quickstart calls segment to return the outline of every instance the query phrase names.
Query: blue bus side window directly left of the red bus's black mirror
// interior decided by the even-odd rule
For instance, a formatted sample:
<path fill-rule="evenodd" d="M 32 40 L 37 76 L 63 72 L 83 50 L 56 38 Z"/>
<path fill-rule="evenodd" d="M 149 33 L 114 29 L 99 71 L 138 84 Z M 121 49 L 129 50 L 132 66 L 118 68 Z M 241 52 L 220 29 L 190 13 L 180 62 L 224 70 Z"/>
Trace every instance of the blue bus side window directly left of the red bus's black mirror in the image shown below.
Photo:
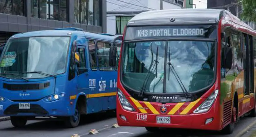
<path fill-rule="evenodd" d="M 113 70 L 108 62 L 109 48 L 109 43 L 97 42 L 97 55 L 100 70 Z"/>

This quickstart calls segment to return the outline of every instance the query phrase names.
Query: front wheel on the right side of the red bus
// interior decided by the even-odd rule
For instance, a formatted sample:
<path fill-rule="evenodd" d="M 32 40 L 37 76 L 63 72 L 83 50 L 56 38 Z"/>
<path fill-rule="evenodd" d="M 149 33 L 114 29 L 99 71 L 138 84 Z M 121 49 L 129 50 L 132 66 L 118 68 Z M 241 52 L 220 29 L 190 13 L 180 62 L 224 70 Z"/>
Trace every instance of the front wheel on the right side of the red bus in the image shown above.
<path fill-rule="evenodd" d="M 229 123 L 229 125 L 224 127 L 224 129 L 223 129 L 224 134 L 232 134 L 233 133 L 236 120 L 237 120 L 237 108 L 235 107 L 235 103 L 233 102 L 232 113 L 231 113 L 231 122 Z"/>

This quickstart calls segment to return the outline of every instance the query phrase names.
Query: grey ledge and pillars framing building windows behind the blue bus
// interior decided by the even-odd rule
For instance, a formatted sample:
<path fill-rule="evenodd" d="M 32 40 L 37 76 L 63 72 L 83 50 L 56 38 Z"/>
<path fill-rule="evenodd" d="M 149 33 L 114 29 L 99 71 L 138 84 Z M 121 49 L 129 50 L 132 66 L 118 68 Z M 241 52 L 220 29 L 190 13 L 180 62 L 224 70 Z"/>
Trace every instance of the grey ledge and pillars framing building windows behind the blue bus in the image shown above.
<path fill-rule="evenodd" d="M 102 1 L 101 4 L 101 26 L 92 26 L 86 24 L 73 23 L 74 20 L 74 2 L 70 0 L 68 10 L 68 20 L 55 21 L 44 20 L 31 17 L 31 1 L 27 0 L 27 17 L 17 15 L 0 14 L 0 32 L 17 32 L 23 33 L 36 30 L 49 30 L 62 27 L 77 27 L 82 28 L 84 31 L 93 33 L 106 33 L 106 1 Z"/>

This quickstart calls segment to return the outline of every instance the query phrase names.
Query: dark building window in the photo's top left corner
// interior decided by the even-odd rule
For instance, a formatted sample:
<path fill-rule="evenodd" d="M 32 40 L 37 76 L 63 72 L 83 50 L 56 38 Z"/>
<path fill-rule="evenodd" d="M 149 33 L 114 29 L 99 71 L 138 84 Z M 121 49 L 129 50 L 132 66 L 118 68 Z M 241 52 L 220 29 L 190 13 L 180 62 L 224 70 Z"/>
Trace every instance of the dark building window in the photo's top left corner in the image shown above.
<path fill-rule="evenodd" d="M 24 16 L 24 0 L 0 0 L 0 13 Z"/>

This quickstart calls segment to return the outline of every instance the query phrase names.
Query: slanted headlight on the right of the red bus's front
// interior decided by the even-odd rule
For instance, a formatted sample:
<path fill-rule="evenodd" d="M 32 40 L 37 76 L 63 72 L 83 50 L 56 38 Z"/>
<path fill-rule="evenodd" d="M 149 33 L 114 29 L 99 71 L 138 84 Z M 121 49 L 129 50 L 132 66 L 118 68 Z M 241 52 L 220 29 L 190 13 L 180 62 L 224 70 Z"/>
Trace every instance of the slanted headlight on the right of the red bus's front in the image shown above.
<path fill-rule="evenodd" d="M 198 108 L 194 110 L 193 113 L 207 112 L 211 108 L 215 99 L 217 98 L 218 93 L 219 93 L 219 90 L 214 91 L 207 99 L 204 100 L 204 102 Z"/>

